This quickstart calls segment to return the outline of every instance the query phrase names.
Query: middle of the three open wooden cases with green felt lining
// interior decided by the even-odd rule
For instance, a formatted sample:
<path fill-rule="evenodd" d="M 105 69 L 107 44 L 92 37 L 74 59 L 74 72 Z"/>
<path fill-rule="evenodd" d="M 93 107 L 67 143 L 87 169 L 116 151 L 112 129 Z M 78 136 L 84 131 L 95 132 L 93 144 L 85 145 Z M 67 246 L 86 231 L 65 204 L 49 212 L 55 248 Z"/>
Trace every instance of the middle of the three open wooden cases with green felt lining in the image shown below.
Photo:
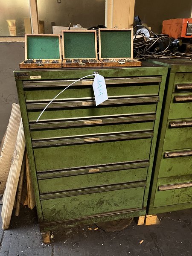
<path fill-rule="evenodd" d="M 62 67 L 102 67 L 95 30 L 62 30 Z"/>

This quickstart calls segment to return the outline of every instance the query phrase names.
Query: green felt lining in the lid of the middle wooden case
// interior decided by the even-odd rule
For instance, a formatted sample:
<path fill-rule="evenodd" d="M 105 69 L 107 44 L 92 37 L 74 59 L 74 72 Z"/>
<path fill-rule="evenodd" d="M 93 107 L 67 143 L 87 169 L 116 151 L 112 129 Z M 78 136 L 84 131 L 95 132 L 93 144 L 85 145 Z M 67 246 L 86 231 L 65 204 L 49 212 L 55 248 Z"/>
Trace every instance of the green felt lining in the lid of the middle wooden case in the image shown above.
<path fill-rule="evenodd" d="M 64 58 L 96 58 L 95 33 L 63 32 Z"/>

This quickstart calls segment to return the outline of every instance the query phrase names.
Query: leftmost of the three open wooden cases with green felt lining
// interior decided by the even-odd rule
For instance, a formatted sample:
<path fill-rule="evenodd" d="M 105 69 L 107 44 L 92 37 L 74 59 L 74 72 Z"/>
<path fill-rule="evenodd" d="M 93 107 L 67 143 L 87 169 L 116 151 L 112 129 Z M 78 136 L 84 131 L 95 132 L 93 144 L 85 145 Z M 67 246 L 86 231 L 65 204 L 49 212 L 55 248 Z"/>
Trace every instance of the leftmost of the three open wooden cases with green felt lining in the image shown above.
<path fill-rule="evenodd" d="M 28 63 L 32 62 L 32 63 Z M 19 64 L 23 68 L 61 68 L 60 35 L 26 34 L 25 61 Z"/>

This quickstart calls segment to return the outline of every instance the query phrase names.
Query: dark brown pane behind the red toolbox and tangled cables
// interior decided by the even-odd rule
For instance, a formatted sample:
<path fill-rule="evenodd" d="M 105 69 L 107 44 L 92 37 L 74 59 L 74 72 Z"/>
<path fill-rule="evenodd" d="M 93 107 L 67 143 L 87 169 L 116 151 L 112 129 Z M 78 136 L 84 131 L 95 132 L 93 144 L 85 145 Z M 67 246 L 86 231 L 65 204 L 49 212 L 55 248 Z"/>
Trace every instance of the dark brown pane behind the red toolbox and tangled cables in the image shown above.
<path fill-rule="evenodd" d="M 135 0 L 134 15 L 139 15 L 155 33 L 162 32 L 163 20 L 189 18 L 191 12 L 191 0 Z"/>

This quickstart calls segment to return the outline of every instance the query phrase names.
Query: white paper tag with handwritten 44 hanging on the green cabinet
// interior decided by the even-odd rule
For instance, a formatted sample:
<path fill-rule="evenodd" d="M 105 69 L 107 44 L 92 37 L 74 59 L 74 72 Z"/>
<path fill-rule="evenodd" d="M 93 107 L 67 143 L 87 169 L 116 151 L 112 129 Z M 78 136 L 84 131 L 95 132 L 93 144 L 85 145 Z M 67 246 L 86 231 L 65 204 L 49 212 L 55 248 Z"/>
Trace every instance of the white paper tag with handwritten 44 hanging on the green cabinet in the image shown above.
<path fill-rule="evenodd" d="M 93 91 L 95 95 L 96 106 L 108 99 L 108 92 L 105 84 L 105 78 L 99 74 L 95 75 L 93 81 Z"/>

